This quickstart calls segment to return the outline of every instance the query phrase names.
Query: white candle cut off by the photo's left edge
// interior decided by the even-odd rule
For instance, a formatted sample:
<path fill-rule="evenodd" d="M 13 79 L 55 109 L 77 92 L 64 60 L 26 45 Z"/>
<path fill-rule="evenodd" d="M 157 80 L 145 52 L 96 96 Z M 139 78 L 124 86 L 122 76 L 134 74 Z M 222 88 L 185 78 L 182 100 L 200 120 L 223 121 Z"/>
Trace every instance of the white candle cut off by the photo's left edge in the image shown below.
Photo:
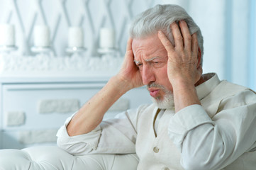
<path fill-rule="evenodd" d="M 0 25 L 0 45 L 15 45 L 15 30 L 13 25 Z"/>

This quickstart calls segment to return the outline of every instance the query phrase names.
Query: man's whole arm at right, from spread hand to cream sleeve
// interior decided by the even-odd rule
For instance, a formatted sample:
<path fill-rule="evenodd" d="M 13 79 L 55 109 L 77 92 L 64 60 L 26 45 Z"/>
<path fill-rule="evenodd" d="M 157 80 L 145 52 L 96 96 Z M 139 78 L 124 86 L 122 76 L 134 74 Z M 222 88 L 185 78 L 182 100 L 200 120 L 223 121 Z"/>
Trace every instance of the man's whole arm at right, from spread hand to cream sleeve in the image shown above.
<path fill-rule="evenodd" d="M 221 169 L 255 147 L 255 94 L 245 91 L 223 101 L 225 106 L 220 108 L 226 110 L 210 118 L 196 95 L 195 86 L 202 81 L 196 35 L 189 35 L 186 23 L 179 26 L 181 32 L 176 23 L 171 26 L 175 47 L 159 34 L 169 56 L 168 77 L 176 111 L 169 122 L 169 137 L 182 152 L 184 169 Z M 246 98 L 249 103 L 242 101 L 245 96 L 250 96 Z"/>

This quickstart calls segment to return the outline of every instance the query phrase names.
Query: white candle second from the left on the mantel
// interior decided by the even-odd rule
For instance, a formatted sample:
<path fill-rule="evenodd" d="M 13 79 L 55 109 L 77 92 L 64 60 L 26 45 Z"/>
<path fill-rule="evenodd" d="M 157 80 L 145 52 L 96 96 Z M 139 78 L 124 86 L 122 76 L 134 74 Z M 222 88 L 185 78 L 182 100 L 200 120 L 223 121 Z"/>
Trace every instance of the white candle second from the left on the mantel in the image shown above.
<path fill-rule="evenodd" d="M 48 26 L 35 26 L 34 45 L 35 47 L 50 47 L 50 29 Z"/>

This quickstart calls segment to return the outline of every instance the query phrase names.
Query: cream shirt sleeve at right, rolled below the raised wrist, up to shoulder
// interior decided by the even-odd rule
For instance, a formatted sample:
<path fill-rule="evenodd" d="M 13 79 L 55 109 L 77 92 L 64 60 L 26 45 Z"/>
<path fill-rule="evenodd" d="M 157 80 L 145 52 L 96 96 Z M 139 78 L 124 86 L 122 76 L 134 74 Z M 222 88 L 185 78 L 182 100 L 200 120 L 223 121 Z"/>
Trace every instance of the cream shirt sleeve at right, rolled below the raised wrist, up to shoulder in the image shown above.
<path fill-rule="evenodd" d="M 184 169 L 222 169 L 255 147 L 255 94 L 243 91 L 222 102 L 213 118 L 199 105 L 171 118 L 168 134 L 182 152 Z"/>

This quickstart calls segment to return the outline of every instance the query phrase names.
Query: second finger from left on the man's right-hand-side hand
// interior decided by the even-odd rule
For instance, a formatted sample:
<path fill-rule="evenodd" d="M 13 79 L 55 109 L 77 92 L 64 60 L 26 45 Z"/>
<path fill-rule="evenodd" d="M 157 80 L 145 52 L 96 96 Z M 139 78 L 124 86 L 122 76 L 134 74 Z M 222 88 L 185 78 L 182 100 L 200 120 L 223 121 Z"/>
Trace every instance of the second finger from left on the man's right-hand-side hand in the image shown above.
<path fill-rule="evenodd" d="M 175 49 L 181 51 L 183 50 L 184 46 L 183 46 L 183 38 L 182 38 L 182 33 L 179 30 L 179 26 L 177 25 L 176 22 L 171 24 L 171 30 L 172 30 L 172 35 L 174 38 L 174 42 L 175 42 Z"/>

